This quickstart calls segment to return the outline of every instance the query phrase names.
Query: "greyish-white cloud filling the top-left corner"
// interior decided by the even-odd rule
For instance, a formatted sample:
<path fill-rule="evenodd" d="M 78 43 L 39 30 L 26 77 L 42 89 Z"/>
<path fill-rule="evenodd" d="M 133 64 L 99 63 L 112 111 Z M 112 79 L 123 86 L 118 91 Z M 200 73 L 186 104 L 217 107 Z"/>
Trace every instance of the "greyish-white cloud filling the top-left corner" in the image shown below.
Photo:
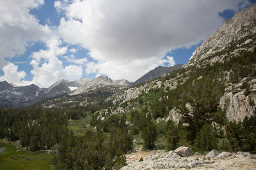
<path fill-rule="evenodd" d="M 0 68 L 5 57 L 22 55 L 31 41 L 40 41 L 51 31 L 40 25 L 30 9 L 44 4 L 43 0 L 0 1 Z"/>

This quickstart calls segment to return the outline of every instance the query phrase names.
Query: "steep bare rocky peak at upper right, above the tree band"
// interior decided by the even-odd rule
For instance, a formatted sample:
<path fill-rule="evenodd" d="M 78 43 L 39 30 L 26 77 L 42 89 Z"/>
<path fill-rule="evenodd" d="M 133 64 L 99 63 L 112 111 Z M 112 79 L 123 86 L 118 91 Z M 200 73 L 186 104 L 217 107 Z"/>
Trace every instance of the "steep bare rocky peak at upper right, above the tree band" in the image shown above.
<path fill-rule="evenodd" d="M 255 18 L 256 3 L 237 12 L 234 17 L 225 20 L 218 31 L 196 48 L 193 57 L 183 67 L 213 64 L 224 60 L 228 52 L 236 55 L 241 50 L 252 51 L 252 40 L 256 37 Z"/>

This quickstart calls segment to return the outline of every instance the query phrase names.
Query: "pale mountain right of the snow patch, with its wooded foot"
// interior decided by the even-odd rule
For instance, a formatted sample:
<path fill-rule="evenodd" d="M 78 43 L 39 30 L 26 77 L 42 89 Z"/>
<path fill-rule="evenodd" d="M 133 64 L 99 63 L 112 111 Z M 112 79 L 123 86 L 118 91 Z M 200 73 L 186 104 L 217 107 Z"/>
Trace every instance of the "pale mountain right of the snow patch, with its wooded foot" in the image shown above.
<path fill-rule="evenodd" d="M 79 83 L 78 88 L 63 94 L 62 96 L 56 96 L 53 99 L 49 99 L 43 103 L 38 104 L 44 108 L 68 108 L 74 106 L 91 106 L 93 108 L 100 108 L 108 103 L 104 104 L 104 101 L 116 92 L 126 89 L 131 83 L 127 80 L 111 80 L 109 77 L 99 76 L 95 79 L 85 79 L 74 81 Z M 71 83 L 71 82 L 70 82 Z M 61 92 L 67 90 L 68 81 L 62 80 L 54 83 L 52 87 L 58 89 Z M 50 87 L 49 89 L 52 89 Z M 70 87 L 69 87 L 70 88 Z M 110 104 L 111 105 L 111 104 Z"/>

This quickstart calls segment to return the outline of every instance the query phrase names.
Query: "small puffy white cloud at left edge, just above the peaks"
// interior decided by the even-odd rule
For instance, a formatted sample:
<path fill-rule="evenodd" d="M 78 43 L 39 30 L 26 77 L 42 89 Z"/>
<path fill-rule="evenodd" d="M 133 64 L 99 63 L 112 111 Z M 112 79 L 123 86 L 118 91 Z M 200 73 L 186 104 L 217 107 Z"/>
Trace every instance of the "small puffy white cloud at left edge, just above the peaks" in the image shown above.
<path fill-rule="evenodd" d="M 4 75 L 0 76 L 0 81 L 7 81 L 15 85 L 29 85 L 29 81 L 24 81 L 25 71 L 18 71 L 18 66 L 9 63 L 3 67 Z"/>

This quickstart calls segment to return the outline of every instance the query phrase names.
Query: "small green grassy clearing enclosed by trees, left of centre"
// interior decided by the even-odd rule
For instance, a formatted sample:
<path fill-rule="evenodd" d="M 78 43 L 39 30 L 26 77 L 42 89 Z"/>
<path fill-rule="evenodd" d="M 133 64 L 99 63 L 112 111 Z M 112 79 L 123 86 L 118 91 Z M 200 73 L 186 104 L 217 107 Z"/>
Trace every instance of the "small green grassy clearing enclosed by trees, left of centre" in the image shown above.
<path fill-rule="evenodd" d="M 90 121 L 90 117 L 68 120 L 68 129 L 74 132 L 75 135 L 83 136 L 86 131 L 93 130 L 93 127 L 90 127 Z"/>

